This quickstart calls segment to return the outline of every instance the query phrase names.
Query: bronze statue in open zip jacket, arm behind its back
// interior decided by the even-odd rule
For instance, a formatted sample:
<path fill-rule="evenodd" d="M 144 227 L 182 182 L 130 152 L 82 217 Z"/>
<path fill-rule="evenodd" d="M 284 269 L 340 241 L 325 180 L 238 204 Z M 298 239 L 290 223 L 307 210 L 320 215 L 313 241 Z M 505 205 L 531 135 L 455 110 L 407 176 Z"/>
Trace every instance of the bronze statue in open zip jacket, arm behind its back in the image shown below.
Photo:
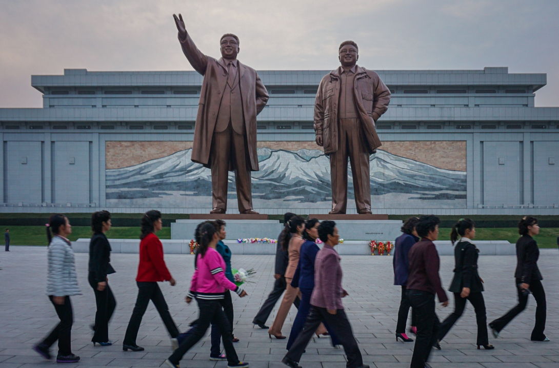
<path fill-rule="evenodd" d="M 355 42 L 342 42 L 338 49 L 342 65 L 323 77 L 316 92 L 316 144 L 330 157 L 330 214 L 347 209 L 348 158 L 357 213 L 371 213 L 369 155 L 381 146 L 375 122 L 388 108 L 390 90 L 375 71 L 357 65 L 358 52 Z"/>

